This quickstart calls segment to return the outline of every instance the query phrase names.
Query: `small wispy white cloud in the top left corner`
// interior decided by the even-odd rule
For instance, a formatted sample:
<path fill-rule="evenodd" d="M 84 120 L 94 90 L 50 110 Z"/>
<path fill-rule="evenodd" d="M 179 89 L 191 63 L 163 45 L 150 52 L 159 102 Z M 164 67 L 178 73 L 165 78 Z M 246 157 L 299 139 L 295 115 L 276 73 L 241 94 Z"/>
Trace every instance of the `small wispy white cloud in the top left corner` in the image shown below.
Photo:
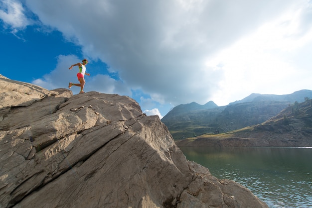
<path fill-rule="evenodd" d="M 18 0 L 3 0 L 0 3 L 0 19 L 5 25 L 12 28 L 13 33 L 30 24 L 30 20 L 24 14 L 25 9 Z"/>

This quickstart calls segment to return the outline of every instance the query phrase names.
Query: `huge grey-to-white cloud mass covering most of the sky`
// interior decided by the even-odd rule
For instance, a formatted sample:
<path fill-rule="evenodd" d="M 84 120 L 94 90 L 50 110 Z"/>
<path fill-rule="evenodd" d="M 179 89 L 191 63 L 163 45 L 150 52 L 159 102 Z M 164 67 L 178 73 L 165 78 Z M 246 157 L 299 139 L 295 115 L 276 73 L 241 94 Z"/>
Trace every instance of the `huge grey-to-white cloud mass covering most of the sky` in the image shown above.
<path fill-rule="evenodd" d="M 25 2 L 44 25 L 61 31 L 65 38 L 81 45 L 88 57 L 99 58 L 110 66 L 110 72 L 118 73 L 119 81 L 106 75 L 90 78 L 95 83 L 93 89 L 100 87 L 123 93 L 142 89 L 154 101 L 173 105 L 193 101 L 204 104 L 211 99 L 222 101 L 238 91 L 248 96 L 253 93 L 251 90 L 261 88 L 260 82 L 268 76 L 279 79 L 281 64 L 290 69 L 291 74 L 295 67 L 276 54 L 271 56 L 271 49 L 272 53 L 263 54 L 267 49 L 262 50 L 261 44 L 266 44 L 268 39 L 274 43 L 270 37 L 275 34 L 277 40 L 294 34 L 266 31 L 263 34 L 267 39 L 263 40 L 254 34 L 272 20 L 279 20 L 274 26 L 291 24 L 292 17 L 298 14 L 302 25 L 297 28 L 301 32 L 297 36 L 303 37 L 310 31 L 307 22 L 311 22 L 312 16 L 310 2 L 306 0 Z M 287 14 L 290 16 L 285 17 Z M 305 37 L 306 43 L 311 40 Z M 255 41 L 259 44 L 254 44 Z M 237 43 L 251 44 L 253 48 Z M 257 60 L 255 57 L 259 55 L 263 56 Z M 276 59 L 275 62 L 272 59 Z M 252 64 L 255 60 L 267 64 Z M 250 79 L 248 70 L 254 72 L 251 77 L 265 73 L 263 80 Z M 48 78 L 45 81 L 49 82 Z M 258 88 L 250 87 L 255 82 Z"/>

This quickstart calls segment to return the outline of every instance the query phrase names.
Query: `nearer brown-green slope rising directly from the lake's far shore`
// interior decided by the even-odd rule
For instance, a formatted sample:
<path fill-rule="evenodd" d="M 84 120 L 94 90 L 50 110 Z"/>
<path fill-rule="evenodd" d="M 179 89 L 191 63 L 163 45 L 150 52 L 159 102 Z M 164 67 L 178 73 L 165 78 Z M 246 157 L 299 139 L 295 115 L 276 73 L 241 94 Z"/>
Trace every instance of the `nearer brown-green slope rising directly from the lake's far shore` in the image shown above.
<path fill-rule="evenodd" d="M 311 147 L 312 100 L 295 102 L 267 121 L 219 135 L 176 141 L 178 146 Z"/>

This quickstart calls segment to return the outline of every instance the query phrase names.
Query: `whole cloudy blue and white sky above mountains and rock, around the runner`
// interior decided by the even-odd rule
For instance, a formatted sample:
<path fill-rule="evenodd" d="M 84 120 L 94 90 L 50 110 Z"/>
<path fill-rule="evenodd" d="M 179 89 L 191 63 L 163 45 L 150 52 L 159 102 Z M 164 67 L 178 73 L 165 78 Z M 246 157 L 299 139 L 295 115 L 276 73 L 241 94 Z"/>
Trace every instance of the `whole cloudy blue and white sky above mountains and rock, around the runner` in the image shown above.
<path fill-rule="evenodd" d="M 0 74 L 174 106 L 312 90 L 312 0 L 1 0 Z M 71 88 L 78 94 L 79 87 Z"/>

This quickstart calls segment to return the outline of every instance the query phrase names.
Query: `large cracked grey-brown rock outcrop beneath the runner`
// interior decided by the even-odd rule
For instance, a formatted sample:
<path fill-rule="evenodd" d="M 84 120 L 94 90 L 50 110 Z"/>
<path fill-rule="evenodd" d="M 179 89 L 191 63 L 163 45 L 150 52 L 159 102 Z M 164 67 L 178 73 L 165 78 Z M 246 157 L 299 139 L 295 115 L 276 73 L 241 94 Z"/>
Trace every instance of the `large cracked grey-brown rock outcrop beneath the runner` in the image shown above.
<path fill-rule="evenodd" d="M 187 161 L 131 98 L 0 77 L 1 208 L 266 208 Z"/>

